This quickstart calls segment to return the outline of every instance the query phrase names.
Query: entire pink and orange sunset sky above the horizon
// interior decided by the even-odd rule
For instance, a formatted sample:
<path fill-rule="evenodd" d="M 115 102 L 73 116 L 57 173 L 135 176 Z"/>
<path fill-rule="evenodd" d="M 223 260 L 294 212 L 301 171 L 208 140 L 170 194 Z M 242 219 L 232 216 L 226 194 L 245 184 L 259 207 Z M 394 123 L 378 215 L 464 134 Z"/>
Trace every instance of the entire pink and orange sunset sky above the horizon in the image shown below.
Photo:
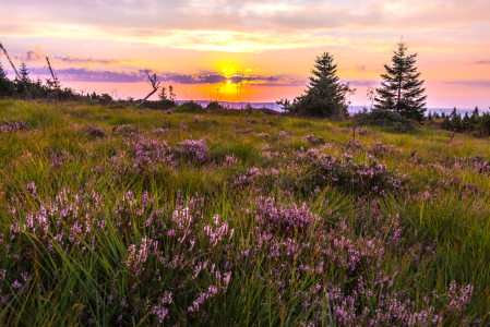
<path fill-rule="evenodd" d="M 48 57 L 77 92 L 142 98 L 148 70 L 179 100 L 244 102 L 299 96 L 326 51 L 352 105 L 370 106 L 403 37 L 429 108 L 487 109 L 489 12 L 489 0 L 0 0 L 0 43 L 32 77 L 47 77 Z"/>

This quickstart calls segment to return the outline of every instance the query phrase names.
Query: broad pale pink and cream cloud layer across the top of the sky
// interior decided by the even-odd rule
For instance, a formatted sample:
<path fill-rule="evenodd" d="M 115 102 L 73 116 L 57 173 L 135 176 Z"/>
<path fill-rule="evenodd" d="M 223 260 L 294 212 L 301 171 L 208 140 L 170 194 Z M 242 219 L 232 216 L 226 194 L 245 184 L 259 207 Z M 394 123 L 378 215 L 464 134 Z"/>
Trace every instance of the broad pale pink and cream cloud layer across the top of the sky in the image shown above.
<path fill-rule="evenodd" d="M 386 38 L 419 32 L 427 47 L 443 51 L 461 45 L 455 38 L 485 43 L 490 27 L 487 0 L 19 0 L 9 9 L 0 13 L 7 36 L 235 52 L 342 45 L 379 50 L 363 37 L 373 35 L 386 50 Z"/>

